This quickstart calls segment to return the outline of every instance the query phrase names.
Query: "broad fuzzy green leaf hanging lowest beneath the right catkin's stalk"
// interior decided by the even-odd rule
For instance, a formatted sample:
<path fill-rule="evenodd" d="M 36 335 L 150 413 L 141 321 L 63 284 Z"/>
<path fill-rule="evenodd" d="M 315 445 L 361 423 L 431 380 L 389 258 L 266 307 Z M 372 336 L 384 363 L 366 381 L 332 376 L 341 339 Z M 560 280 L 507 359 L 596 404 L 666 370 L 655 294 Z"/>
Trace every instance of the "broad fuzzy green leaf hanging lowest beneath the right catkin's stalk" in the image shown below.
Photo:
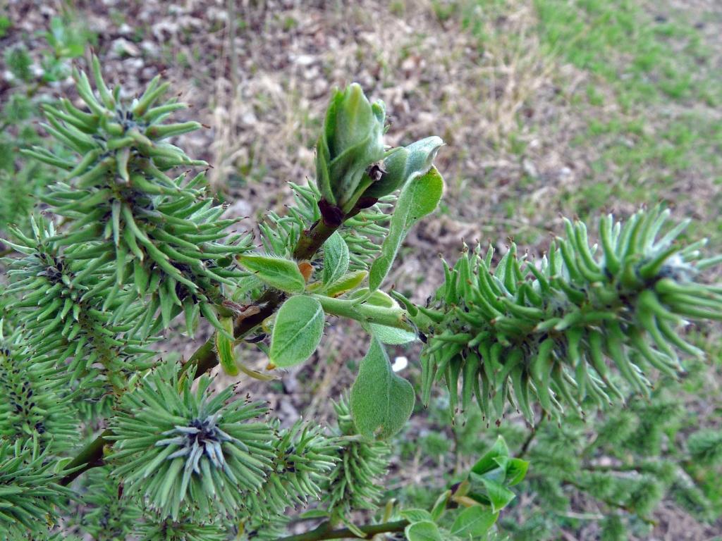
<path fill-rule="evenodd" d="M 351 414 L 359 433 L 390 438 L 411 417 L 415 400 L 412 384 L 393 373 L 386 349 L 372 338 L 351 388 Z"/>

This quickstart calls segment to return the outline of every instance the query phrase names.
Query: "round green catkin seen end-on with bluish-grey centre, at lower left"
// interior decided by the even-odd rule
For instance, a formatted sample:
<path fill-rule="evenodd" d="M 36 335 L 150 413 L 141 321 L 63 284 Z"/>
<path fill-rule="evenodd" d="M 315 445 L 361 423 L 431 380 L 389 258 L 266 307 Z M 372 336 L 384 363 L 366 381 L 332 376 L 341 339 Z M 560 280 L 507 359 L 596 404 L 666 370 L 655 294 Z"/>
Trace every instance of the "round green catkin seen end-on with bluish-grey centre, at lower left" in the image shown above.
<path fill-rule="evenodd" d="M 178 366 L 169 365 L 126 392 L 113 418 L 116 443 L 108 460 L 126 491 L 145 494 L 161 516 L 208 520 L 237 512 L 263 486 L 273 431 L 260 403 L 228 402 L 232 387 L 211 395 L 209 377 L 194 392 L 192 383 L 179 382 Z M 229 484 L 233 491 L 226 491 Z"/>

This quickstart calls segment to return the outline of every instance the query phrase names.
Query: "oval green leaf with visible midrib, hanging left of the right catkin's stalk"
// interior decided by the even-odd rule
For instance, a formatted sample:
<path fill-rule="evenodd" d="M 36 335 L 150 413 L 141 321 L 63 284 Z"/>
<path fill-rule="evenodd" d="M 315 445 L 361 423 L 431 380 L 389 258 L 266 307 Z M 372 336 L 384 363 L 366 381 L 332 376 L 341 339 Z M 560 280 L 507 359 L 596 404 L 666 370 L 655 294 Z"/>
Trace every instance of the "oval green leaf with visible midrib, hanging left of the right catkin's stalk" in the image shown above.
<path fill-rule="evenodd" d="M 310 296 L 292 296 L 276 315 L 269 358 L 276 366 L 294 366 L 308 359 L 323 336 L 323 308 Z"/>

